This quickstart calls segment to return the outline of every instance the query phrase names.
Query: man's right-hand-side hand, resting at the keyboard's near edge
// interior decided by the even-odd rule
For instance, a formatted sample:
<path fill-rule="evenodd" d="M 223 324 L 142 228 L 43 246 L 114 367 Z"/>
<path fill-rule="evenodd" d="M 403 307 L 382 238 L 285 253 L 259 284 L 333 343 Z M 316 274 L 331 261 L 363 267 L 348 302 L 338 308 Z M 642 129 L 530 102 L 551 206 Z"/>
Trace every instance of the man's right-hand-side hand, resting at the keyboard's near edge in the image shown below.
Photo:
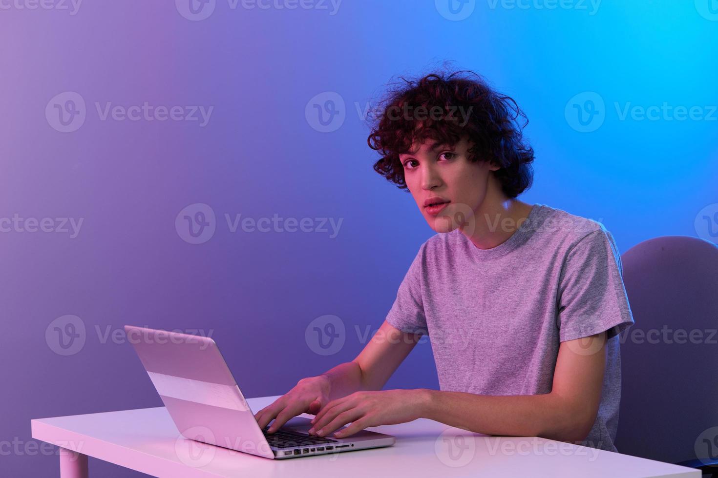
<path fill-rule="evenodd" d="M 430 398 L 428 391 L 386 390 L 361 391 L 337 398 L 322 407 L 314 417 L 314 428 L 309 434 L 326 436 L 332 431 L 352 422 L 334 436 L 350 436 L 368 426 L 403 424 L 421 418 Z M 315 432 L 316 431 L 316 432 Z"/>

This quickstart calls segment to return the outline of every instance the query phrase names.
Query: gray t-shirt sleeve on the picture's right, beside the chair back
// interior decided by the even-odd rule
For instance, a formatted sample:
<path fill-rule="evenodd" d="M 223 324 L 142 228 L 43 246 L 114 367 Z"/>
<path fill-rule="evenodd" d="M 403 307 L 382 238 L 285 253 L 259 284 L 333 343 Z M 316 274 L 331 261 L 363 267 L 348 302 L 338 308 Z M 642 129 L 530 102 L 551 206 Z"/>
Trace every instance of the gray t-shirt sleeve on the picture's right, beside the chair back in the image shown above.
<path fill-rule="evenodd" d="M 559 341 L 633 325 L 623 285 L 623 264 L 613 236 L 603 227 L 584 236 L 567 254 L 559 280 Z"/>

